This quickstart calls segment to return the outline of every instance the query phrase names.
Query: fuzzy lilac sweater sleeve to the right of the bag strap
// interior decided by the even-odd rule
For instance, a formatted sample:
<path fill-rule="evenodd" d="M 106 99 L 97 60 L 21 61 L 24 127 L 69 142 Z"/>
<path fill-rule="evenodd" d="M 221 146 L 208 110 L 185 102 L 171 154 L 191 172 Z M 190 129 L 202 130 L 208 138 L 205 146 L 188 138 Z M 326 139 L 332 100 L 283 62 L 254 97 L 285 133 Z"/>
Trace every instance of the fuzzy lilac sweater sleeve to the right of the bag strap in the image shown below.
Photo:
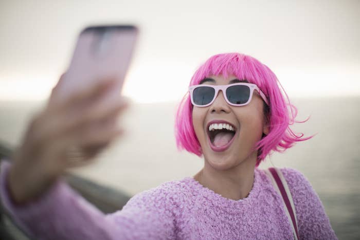
<path fill-rule="evenodd" d="M 294 200 L 300 239 L 337 239 L 322 202 L 308 179 L 299 171 L 282 168 Z"/>

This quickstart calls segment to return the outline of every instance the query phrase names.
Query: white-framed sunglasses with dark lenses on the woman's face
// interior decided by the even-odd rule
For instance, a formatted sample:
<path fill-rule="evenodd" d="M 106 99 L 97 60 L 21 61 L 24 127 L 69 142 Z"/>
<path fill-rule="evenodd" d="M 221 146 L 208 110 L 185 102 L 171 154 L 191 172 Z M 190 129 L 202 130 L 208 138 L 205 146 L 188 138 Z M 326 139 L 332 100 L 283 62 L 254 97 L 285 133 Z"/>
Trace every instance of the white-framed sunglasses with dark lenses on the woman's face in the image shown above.
<path fill-rule="evenodd" d="M 189 87 L 191 103 L 194 106 L 206 107 L 211 105 L 223 91 L 226 102 L 232 106 L 244 106 L 251 101 L 254 90 L 257 90 L 264 102 L 268 104 L 266 96 L 260 88 L 253 83 L 233 83 L 228 85 L 193 85 Z"/>

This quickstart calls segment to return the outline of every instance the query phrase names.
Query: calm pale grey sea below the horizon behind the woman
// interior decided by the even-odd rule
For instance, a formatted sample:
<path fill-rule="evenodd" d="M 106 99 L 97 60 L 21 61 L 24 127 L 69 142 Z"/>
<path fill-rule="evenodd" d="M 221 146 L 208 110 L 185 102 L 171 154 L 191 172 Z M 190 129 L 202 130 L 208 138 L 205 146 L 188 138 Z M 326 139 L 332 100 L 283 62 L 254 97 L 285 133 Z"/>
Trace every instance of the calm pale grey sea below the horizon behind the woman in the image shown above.
<path fill-rule="evenodd" d="M 259 168 L 294 168 L 319 195 L 339 239 L 360 239 L 360 97 L 292 99 L 298 108 L 292 129 L 314 135 L 284 153 L 273 153 Z M 0 144 L 21 144 L 30 120 L 44 101 L 0 101 Z M 130 196 L 159 184 L 193 176 L 204 160 L 176 148 L 177 102 L 131 103 L 119 118 L 125 133 L 86 167 L 69 172 Z"/>

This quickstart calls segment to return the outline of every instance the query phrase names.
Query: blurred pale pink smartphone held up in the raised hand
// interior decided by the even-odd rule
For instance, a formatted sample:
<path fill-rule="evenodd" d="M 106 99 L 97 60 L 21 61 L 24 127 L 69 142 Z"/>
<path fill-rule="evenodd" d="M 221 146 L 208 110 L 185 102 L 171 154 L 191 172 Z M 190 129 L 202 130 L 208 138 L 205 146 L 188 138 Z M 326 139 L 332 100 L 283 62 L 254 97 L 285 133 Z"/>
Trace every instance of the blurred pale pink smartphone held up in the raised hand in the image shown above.
<path fill-rule="evenodd" d="M 115 78 L 102 104 L 119 99 L 138 36 L 134 25 L 89 26 L 81 31 L 70 65 L 59 84 L 56 101 L 92 87 L 99 81 Z"/>

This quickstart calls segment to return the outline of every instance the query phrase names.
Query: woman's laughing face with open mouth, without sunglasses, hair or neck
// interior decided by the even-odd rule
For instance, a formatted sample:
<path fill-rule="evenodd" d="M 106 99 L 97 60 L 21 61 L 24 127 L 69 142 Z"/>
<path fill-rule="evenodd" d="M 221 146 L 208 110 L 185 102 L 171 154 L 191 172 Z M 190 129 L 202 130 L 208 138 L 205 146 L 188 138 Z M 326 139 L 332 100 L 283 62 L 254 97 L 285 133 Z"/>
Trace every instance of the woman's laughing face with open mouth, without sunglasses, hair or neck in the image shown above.
<path fill-rule="evenodd" d="M 201 84 L 227 85 L 236 82 L 244 81 L 233 75 L 226 79 L 223 76 L 210 76 Z M 193 107 L 192 120 L 205 160 L 218 170 L 230 169 L 245 161 L 256 162 L 257 151 L 254 151 L 254 147 L 262 134 L 268 133 L 263 100 L 257 91 L 245 106 L 229 105 L 222 91 L 219 91 L 211 105 Z M 213 127 L 219 128 L 220 125 L 223 130 L 213 131 Z"/>

